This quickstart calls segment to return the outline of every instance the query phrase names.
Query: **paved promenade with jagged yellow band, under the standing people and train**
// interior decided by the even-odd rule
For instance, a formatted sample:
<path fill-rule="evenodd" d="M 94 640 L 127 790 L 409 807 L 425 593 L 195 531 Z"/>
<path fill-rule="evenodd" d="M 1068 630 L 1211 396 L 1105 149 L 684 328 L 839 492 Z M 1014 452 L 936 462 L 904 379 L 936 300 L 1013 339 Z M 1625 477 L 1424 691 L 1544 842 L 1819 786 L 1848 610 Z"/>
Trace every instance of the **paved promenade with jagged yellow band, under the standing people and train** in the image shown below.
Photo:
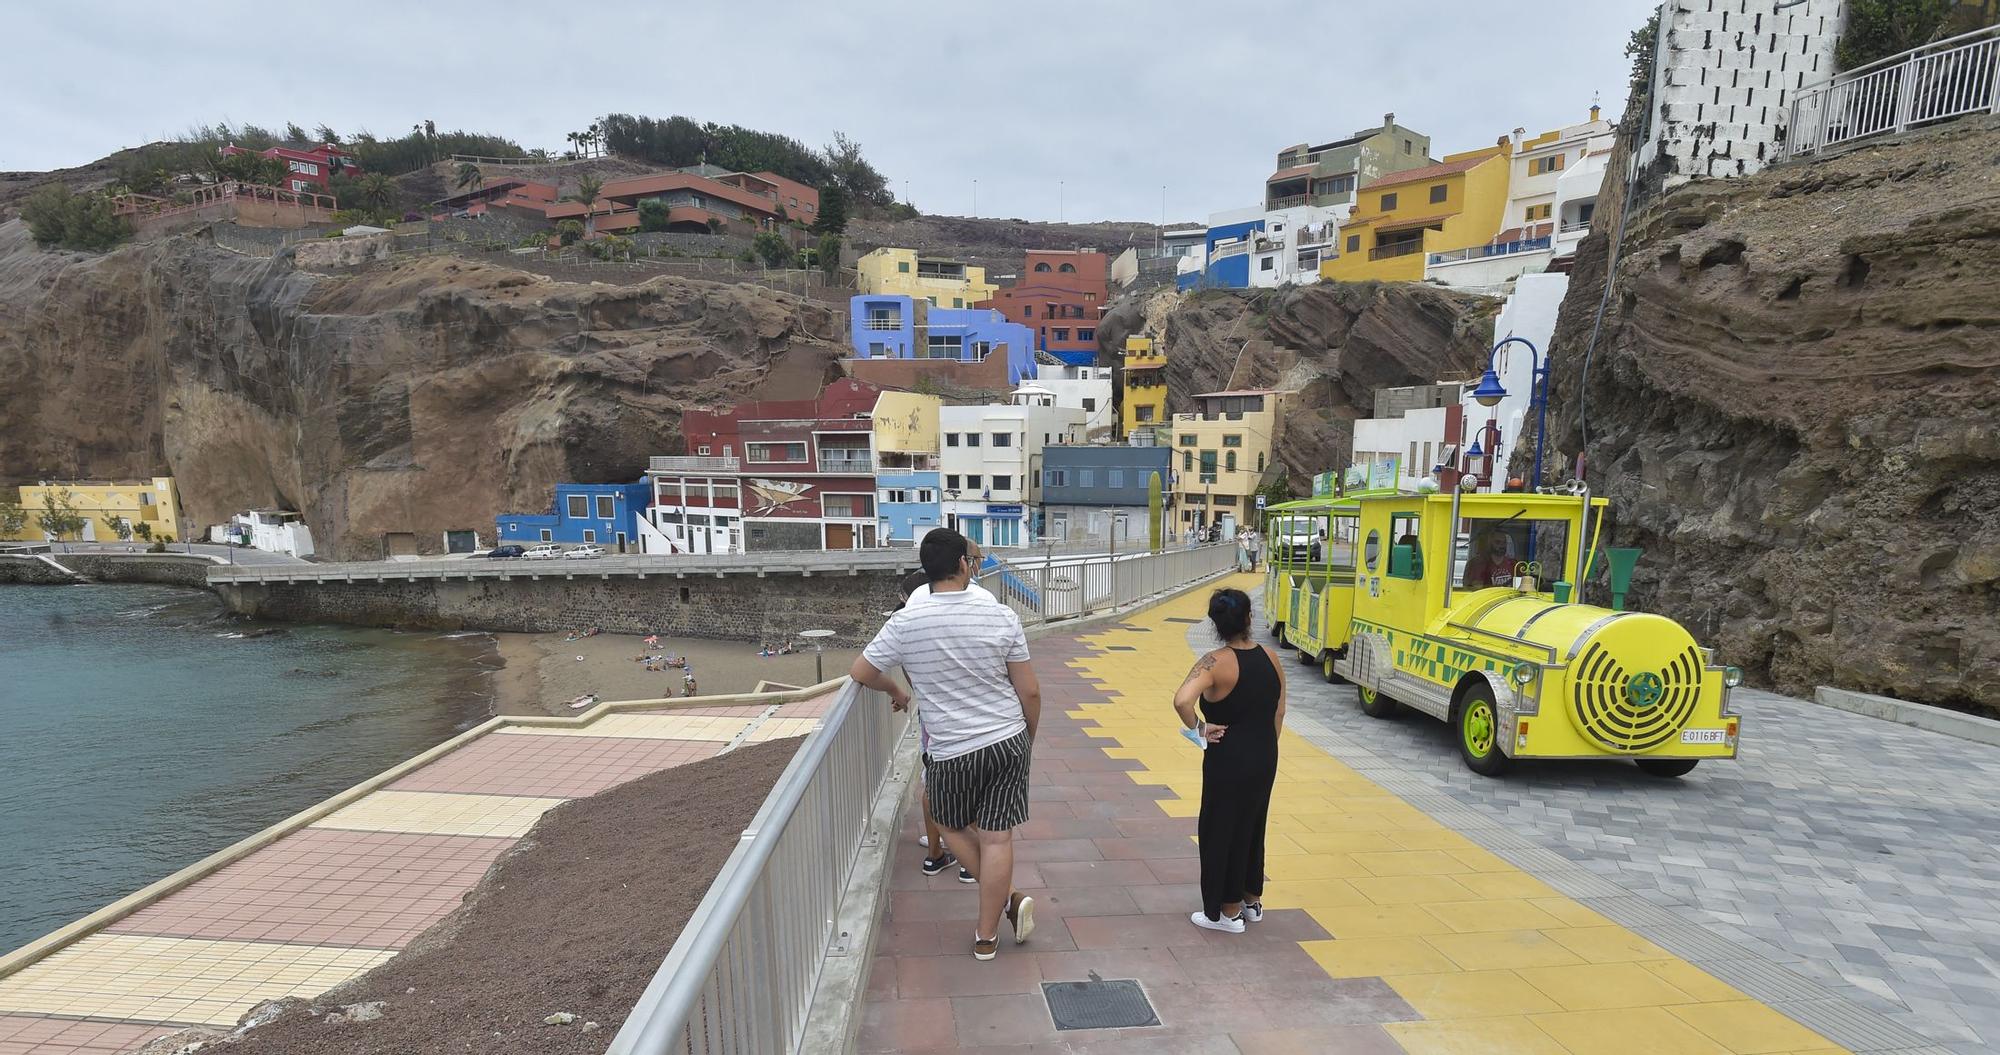
<path fill-rule="evenodd" d="M 1974 835 L 2000 829 L 1996 757 L 1776 697 L 1752 699 L 1742 761 L 1682 781 L 1612 763 L 1486 781 L 1444 725 L 1366 719 L 1350 687 L 1288 663 L 1270 911 L 1244 935 L 1192 927 L 1200 753 L 1168 699 L 1210 641 L 1204 605 L 1196 591 L 1034 643 L 1044 731 L 1016 881 L 1036 895 L 1036 935 L 972 961 L 972 889 L 918 873 L 912 807 L 862 1051 L 2000 1045 L 1982 1019 L 2000 1003 L 1986 999 L 2000 865 Z M 1942 773 L 1908 773 L 1924 767 Z M 1856 971 L 1878 947 L 1892 971 Z M 1086 979 L 1136 979 L 1160 1025 L 1058 1031 L 1044 983 Z"/>

